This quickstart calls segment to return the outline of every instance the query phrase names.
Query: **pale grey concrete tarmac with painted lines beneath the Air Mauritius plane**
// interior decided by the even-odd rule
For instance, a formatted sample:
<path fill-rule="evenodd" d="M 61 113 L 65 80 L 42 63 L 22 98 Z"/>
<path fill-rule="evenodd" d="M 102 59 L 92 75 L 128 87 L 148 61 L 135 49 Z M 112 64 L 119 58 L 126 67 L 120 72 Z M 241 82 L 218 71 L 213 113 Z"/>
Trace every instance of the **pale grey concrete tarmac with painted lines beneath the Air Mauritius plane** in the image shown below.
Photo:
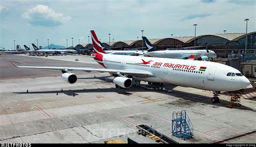
<path fill-rule="evenodd" d="M 78 59 L 79 61 L 75 61 Z M 136 136 L 145 124 L 179 143 L 256 143 L 256 92 L 240 92 L 241 107 L 226 108 L 232 93 L 170 85 L 152 90 L 118 89 L 109 73 L 73 71 L 75 84 L 60 78 L 60 71 L 16 68 L 18 65 L 102 68 L 91 58 L 62 55 L 0 56 L 0 143 L 104 143 Z M 28 93 L 27 93 L 28 89 Z M 186 110 L 194 127 L 193 138 L 172 136 L 173 111 Z"/>

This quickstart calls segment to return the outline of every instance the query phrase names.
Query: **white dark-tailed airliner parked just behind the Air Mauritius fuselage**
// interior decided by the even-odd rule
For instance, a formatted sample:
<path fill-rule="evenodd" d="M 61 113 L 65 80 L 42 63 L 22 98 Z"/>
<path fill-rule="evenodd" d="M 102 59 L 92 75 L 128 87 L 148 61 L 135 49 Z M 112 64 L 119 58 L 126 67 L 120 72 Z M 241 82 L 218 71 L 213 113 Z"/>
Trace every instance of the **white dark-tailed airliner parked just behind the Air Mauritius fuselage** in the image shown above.
<path fill-rule="evenodd" d="M 147 40 L 146 37 L 142 37 L 143 42 L 147 48 L 152 48 L 153 45 Z M 145 56 L 158 57 L 158 58 L 173 58 L 173 59 L 189 59 L 193 55 L 198 60 L 208 60 L 216 58 L 217 55 L 211 50 L 164 50 L 164 51 L 153 51 L 145 53 Z"/>

